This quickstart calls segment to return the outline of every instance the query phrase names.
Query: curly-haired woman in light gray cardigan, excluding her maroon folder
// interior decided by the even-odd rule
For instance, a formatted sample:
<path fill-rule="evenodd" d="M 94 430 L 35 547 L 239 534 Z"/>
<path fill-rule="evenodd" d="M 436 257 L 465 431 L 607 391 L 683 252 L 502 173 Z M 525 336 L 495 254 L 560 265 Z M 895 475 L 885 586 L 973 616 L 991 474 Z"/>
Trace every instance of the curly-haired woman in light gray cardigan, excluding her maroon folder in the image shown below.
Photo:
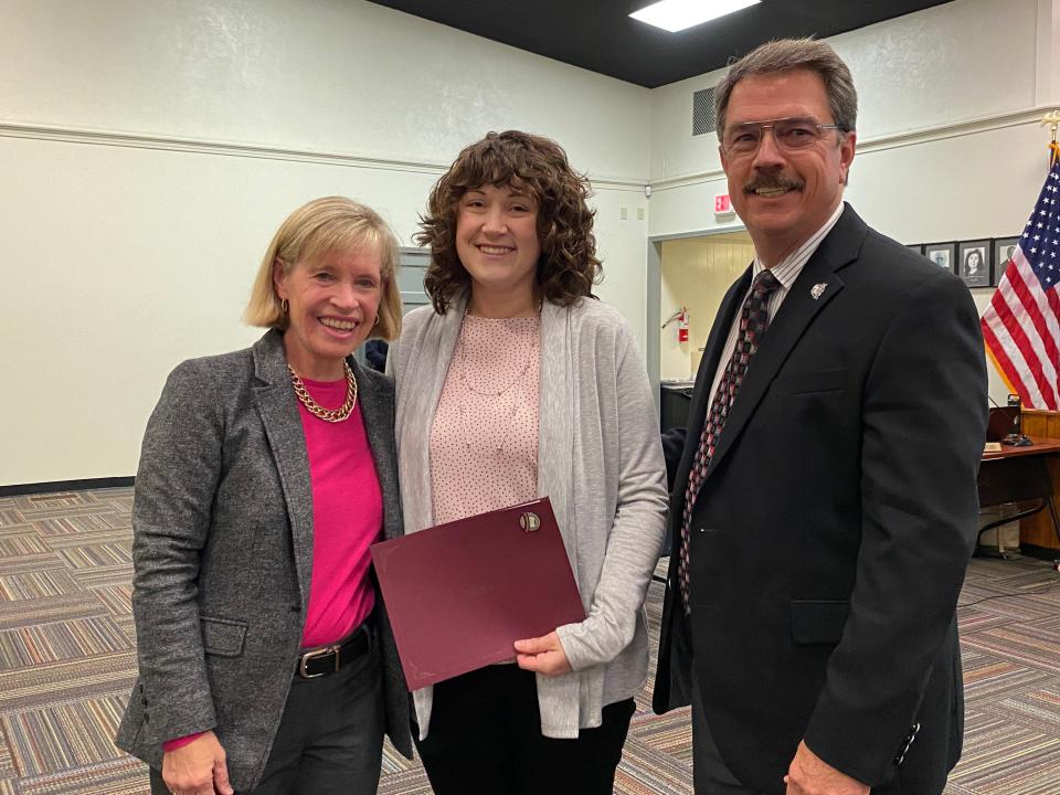
<path fill-rule="evenodd" d="M 629 325 L 591 293 L 587 198 L 554 141 L 490 132 L 438 180 L 417 236 L 433 306 L 389 360 L 405 531 L 547 496 L 587 616 L 413 693 L 438 795 L 610 794 L 647 676 L 665 467 Z"/>

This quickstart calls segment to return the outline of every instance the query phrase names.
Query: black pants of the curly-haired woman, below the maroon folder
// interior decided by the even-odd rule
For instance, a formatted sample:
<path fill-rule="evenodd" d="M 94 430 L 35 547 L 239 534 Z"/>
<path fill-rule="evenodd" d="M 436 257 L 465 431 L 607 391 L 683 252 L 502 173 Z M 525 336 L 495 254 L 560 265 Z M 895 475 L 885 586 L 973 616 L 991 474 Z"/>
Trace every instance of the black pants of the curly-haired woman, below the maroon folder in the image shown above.
<path fill-rule="evenodd" d="M 416 748 L 436 795 L 611 795 L 635 708 L 608 704 L 598 728 L 553 740 L 541 734 L 534 675 L 489 666 L 435 686 Z"/>

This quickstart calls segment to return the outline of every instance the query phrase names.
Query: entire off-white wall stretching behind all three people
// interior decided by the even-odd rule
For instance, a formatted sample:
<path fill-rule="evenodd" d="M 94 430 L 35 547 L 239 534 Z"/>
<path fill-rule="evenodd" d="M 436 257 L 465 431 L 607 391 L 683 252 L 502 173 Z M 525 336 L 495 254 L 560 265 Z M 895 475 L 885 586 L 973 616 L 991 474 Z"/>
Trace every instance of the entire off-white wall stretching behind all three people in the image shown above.
<path fill-rule="evenodd" d="M 858 211 L 904 242 L 1018 231 L 1058 24 L 1060 0 L 956 0 L 833 39 L 861 95 Z M 361 0 L 0 0 L 0 485 L 131 474 L 166 373 L 256 336 L 239 315 L 289 210 L 353 195 L 407 244 L 488 129 L 589 172 L 597 292 L 642 342 L 647 235 L 740 226 L 689 135 L 719 73 L 648 92 Z"/>

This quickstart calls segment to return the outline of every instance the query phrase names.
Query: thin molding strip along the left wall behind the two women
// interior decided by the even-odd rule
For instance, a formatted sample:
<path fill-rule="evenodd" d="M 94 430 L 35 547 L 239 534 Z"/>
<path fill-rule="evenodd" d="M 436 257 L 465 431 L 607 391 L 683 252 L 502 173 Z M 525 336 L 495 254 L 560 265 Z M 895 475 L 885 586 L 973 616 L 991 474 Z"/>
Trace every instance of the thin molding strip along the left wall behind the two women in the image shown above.
<path fill-rule="evenodd" d="M 314 149 L 290 149 L 264 144 L 236 144 L 213 141 L 199 138 L 181 138 L 163 135 L 145 135 L 117 130 L 98 130 L 52 125 L 21 124 L 0 121 L 0 138 L 26 138 L 30 140 L 82 144 L 131 149 L 153 149 L 158 151 L 192 152 L 219 157 L 250 158 L 257 160 L 284 160 L 287 162 L 307 162 L 342 168 L 370 169 L 374 171 L 404 171 L 441 177 L 449 165 L 431 160 L 402 160 L 374 158 L 348 152 L 328 152 Z M 618 177 L 591 178 L 595 190 L 621 190 L 644 192 L 647 179 L 624 179 Z"/>

